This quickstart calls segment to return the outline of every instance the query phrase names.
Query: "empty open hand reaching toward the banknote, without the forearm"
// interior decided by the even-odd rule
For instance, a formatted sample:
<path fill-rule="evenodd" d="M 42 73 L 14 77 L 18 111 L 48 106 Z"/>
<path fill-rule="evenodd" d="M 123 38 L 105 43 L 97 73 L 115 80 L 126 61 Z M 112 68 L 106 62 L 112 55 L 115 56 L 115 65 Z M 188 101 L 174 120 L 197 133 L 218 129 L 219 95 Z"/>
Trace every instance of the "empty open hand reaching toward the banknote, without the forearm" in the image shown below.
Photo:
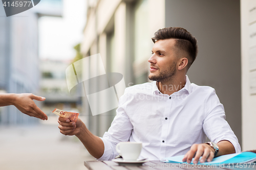
<path fill-rule="evenodd" d="M 14 105 L 19 111 L 42 120 L 48 119 L 47 115 L 42 112 L 33 101 L 44 101 L 46 98 L 42 98 L 31 93 L 12 94 L 12 96 L 12 105 Z"/>

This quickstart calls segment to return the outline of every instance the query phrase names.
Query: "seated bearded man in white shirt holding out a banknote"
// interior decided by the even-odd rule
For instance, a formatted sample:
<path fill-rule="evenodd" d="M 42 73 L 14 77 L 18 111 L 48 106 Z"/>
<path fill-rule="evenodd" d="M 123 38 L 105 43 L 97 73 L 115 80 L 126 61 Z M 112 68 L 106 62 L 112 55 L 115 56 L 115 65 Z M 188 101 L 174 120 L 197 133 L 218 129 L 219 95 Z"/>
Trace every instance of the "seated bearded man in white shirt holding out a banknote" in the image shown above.
<path fill-rule="evenodd" d="M 115 158 L 120 141 L 142 142 L 140 158 L 150 160 L 185 155 L 183 161 L 195 157 L 198 163 L 200 156 L 205 162 L 241 152 L 215 90 L 191 84 L 186 76 L 197 56 L 196 38 L 171 27 L 158 30 L 152 40 L 148 78 L 153 82 L 125 89 L 108 132 L 99 138 L 80 119 L 73 123 L 59 117 L 60 132 L 76 135 L 99 160 Z M 212 142 L 204 143 L 206 135 Z"/>

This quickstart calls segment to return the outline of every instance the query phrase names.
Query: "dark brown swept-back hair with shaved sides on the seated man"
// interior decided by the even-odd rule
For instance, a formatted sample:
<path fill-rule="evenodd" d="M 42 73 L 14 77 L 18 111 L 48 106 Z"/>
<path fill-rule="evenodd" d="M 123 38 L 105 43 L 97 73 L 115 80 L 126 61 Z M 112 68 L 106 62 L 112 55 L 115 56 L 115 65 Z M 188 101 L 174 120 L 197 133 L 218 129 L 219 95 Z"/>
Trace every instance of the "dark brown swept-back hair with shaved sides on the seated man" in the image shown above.
<path fill-rule="evenodd" d="M 152 38 L 152 41 L 155 43 L 157 40 L 170 38 L 176 39 L 175 46 L 188 54 L 190 58 L 190 61 L 188 59 L 189 68 L 197 57 L 197 39 L 192 36 L 186 29 L 180 27 L 169 27 L 159 29 L 157 32 L 155 32 L 155 37 Z"/>

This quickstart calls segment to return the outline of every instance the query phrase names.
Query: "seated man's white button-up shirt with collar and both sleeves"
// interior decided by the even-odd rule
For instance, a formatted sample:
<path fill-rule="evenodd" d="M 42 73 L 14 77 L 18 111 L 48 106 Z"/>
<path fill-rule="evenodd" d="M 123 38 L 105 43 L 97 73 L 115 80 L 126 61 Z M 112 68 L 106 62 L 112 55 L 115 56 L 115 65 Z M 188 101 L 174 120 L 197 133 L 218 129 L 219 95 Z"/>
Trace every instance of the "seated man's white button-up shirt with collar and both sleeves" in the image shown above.
<path fill-rule="evenodd" d="M 104 154 L 98 160 L 114 159 L 120 141 L 142 142 L 139 158 L 185 155 L 194 143 L 204 143 L 206 135 L 215 143 L 228 140 L 236 153 L 241 152 L 215 89 L 191 84 L 188 77 L 185 86 L 171 95 L 162 94 L 155 81 L 128 87 L 116 113 L 101 138 Z"/>

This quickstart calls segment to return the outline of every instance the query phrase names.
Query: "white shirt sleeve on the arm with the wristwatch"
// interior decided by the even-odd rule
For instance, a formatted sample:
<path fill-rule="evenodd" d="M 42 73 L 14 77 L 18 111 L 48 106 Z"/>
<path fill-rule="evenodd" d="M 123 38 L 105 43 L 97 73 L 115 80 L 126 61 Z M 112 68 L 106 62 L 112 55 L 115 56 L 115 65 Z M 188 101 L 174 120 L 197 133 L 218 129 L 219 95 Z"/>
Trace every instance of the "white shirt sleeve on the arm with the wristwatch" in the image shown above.
<path fill-rule="evenodd" d="M 203 130 L 210 141 L 218 143 L 221 140 L 228 140 L 233 144 L 236 153 L 240 153 L 238 138 L 225 120 L 224 107 L 214 89 L 206 99 L 205 109 L 207 116 L 204 119 Z"/>

